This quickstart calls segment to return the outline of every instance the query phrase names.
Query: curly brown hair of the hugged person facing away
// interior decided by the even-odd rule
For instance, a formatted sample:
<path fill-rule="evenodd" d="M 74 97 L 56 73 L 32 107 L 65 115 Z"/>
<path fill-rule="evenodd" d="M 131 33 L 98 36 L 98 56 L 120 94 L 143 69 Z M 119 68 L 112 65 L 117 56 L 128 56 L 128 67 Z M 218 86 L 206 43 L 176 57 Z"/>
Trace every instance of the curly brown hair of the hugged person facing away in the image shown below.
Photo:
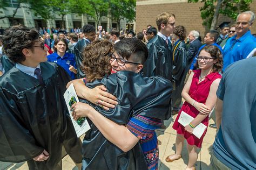
<path fill-rule="evenodd" d="M 111 74 L 109 53 L 113 53 L 113 44 L 108 40 L 95 40 L 84 48 L 82 53 L 83 71 L 87 82 L 102 79 Z"/>

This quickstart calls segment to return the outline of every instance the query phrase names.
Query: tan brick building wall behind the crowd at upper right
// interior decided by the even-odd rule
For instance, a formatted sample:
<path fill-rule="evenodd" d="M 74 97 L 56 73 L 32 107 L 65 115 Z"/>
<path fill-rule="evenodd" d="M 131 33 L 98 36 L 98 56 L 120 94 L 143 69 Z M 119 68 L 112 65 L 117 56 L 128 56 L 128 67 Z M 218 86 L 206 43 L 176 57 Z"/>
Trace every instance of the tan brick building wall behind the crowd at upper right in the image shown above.
<path fill-rule="evenodd" d="M 185 26 L 187 32 L 198 30 L 204 37 L 207 31 L 202 25 L 203 20 L 200 16 L 199 8 L 204 3 L 187 3 L 187 0 L 137 0 L 136 3 L 136 32 L 142 31 L 148 24 L 156 26 L 156 16 L 161 12 L 174 13 L 176 15 L 176 25 Z M 250 10 L 256 14 L 256 0 L 250 5 Z M 234 24 L 231 18 L 219 16 L 217 25 L 227 21 Z M 256 33 L 256 23 L 252 25 L 252 33 Z"/>

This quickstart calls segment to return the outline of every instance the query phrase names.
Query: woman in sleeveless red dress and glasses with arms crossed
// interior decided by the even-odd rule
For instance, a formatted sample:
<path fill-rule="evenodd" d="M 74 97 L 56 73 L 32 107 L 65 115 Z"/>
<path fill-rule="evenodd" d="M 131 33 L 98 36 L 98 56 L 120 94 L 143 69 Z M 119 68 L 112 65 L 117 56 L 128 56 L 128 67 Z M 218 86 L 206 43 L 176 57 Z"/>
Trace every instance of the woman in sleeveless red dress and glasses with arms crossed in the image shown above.
<path fill-rule="evenodd" d="M 200 123 L 203 123 L 206 127 L 208 126 L 208 114 L 210 114 L 216 103 L 216 91 L 221 79 L 221 75 L 218 72 L 223 67 L 223 57 L 219 48 L 216 46 L 205 46 L 199 52 L 197 60 L 199 69 L 194 70 L 188 77 L 181 94 L 186 102 L 181 107 L 172 126 L 177 131 L 176 153 L 169 155 L 165 159 L 166 162 L 180 159 L 181 150 L 186 139 L 189 157 L 186 169 L 195 169 L 194 164 L 198 158 L 196 151 L 197 148 L 201 147 L 207 129 L 200 139 L 194 136 L 192 132 Z M 185 127 L 178 122 L 181 111 L 186 112 L 186 114 L 194 118 Z"/>

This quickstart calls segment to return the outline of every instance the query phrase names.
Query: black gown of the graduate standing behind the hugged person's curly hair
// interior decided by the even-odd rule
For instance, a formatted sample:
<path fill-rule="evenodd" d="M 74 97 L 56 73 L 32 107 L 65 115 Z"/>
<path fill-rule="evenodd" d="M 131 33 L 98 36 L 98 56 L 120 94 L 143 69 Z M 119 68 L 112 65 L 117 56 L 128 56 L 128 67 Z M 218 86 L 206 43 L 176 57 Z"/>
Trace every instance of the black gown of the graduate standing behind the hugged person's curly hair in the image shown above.
<path fill-rule="evenodd" d="M 75 53 L 75 60 L 76 60 L 76 67 L 77 67 L 77 79 L 81 79 L 85 77 L 84 72 L 81 69 L 81 66 L 83 66 L 83 50 L 86 47 L 88 42 L 85 39 L 82 39 L 77 42 L 77 44 L 74 47 L 73 53 Z"/>

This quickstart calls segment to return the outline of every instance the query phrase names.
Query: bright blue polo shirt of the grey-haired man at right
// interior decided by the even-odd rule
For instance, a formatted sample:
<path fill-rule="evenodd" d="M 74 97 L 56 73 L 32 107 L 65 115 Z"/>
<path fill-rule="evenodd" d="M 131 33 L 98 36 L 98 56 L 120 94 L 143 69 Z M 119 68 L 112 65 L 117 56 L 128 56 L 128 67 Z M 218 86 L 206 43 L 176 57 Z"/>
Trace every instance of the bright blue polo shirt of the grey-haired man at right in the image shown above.
<path fill-rule="evenodd" d="M 250 30 L 239 39 L 235 38 L 237 38 L 237 35 L 228 39 L 224 47 L 223 71 L 235 61 L 250 58 L 249 54 L 256 48 L 256 38 L 252 36 Z"/>

